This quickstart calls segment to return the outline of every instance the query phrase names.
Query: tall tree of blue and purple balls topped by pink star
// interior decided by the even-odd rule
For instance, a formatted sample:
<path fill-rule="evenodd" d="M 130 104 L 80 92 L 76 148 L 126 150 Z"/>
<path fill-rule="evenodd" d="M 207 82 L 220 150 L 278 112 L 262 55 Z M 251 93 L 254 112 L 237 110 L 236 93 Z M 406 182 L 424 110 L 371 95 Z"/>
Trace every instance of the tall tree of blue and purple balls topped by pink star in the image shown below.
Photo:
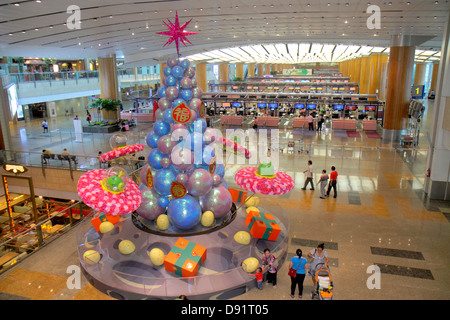
<path fill-rule="evenodd" d="M 177 15 L 175 24 L 166 24 L 171 32 L 163 34 L 172 37 L 167 43 L 176 41 L 177 51 L 178 38 L 184 43 L 183 37 L 192 33 L 176 30 L 188 23 L 180 27 Z M 169 58 L 162 71 L 155 122 L 146 138 L 151 151 L 140 173 L 142 203 L 136 213 L 147 220 L 168 220 L 177 231 L 195 228 L 201 221 L 211 226 L 211 220 L 225 217 L 232 207 L 224 165 L 216 162 L 214 152 L 218 133 L 207 127 L 202 90 L 190 62 Z M 202 220 L 202 215 L 211 217 L 211 213 L 214 219 Z"/>

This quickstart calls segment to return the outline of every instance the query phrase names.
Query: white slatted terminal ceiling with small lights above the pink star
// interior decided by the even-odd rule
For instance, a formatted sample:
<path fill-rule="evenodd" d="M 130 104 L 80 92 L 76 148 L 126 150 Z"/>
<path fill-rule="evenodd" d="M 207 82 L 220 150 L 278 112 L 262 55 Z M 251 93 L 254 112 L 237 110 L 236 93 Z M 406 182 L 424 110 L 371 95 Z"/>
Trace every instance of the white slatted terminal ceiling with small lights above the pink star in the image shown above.
<path fill-rule="evenodd" d="M 157 32 L 168 30 L 163 21 L 173 22 L 175 11 L 181 24 L 192 18 L 187 31 L 198 32 L 188 37 L 192 45 L 180 44 L 183 56 L 259 44 L 284 52 L 283 45 L 289 50 L 299 43 L 327 45 L 328 55 L 337 44 L 389 47 L 394 34 L 430 36 L 418 49 L 439 51 L 450 9 L 448 0 L 76 2 L 0 0 L 0 55 L 92 58 L 115 53 L 128 65 L 166 61 L 176 56 L 176 49 L 173 44 L 163 47 L 168 37 Z M 80 29 L 65 25 L 67 8 L 74 4 L 81 8 Z M 367 27 L 369 5 L 380 8 L 380 29 Z"/>

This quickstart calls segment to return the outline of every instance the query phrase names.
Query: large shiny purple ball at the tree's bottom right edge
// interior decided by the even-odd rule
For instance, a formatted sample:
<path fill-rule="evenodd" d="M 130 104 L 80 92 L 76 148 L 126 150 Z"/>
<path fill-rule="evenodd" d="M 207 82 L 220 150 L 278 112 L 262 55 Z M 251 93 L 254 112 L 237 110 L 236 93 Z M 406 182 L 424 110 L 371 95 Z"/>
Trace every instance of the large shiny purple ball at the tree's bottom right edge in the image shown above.
<path fill-rule="evenodd" d="M 233 201 L 228 189 L 224 187 L 214 187 L 204 196 L 199 198 L 203 212 L 212 211 L 214 217 L 222 218 L 230 212 Z"/>

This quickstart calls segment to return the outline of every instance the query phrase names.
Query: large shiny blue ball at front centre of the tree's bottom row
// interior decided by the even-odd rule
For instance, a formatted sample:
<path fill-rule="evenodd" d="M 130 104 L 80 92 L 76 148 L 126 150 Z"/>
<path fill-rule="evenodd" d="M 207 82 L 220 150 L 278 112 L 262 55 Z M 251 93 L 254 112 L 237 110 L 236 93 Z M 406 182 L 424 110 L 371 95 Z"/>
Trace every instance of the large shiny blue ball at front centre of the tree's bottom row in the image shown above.
<path fill-rule="evenodd" d="M 199 224 L 202 209 L 198 200 L 190 195 L 172 199 L 167 207 L 170 223 L 180 230 L 189 230 Z"/>

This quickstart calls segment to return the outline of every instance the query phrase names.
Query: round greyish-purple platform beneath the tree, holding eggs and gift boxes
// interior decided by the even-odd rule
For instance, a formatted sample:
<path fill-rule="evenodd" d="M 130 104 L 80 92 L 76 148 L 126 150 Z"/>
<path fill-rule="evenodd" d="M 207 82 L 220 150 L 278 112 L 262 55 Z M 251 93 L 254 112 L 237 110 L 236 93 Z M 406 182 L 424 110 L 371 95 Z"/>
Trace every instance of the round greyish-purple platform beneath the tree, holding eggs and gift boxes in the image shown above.
<path fill-rule="evenodd" d="M 252 238 L 250 244 L 234 240 L 238 231 L 248 231 L 246 212 L 239 209 L 235 219 L 220 230 L 185 238 L 207 248 L 205 263 L 197 276 L 180 277 L 167 272 L 164 265 L 154 266 L 149 258 L 153 248 L 165 254 L 177 238 L 145 232 L 136 227 L 131 215 L 125 216 L 115 228 L 100 235 L 91 227 L 89 219 L 82 222 L 78 234 L 79 257 L 82 270 L 89 282 L 98 290 L 116 299 L 174 299 L 186 295 L 189 299 L 229 299 L 256 287 L 255 277 L 246 273 L 242 262 L 249 257 L 261 259 L 263 250 L 269 248 L 281 267 L 288 249 L 289 220 L 278 214 L 281 227 L 277 241 Z M 118 244 L 132 241 L 136 249 L 129 255 L 121 254 Z M 97 264 L 83 260 L 87 250 L 100 253 Z"/>

